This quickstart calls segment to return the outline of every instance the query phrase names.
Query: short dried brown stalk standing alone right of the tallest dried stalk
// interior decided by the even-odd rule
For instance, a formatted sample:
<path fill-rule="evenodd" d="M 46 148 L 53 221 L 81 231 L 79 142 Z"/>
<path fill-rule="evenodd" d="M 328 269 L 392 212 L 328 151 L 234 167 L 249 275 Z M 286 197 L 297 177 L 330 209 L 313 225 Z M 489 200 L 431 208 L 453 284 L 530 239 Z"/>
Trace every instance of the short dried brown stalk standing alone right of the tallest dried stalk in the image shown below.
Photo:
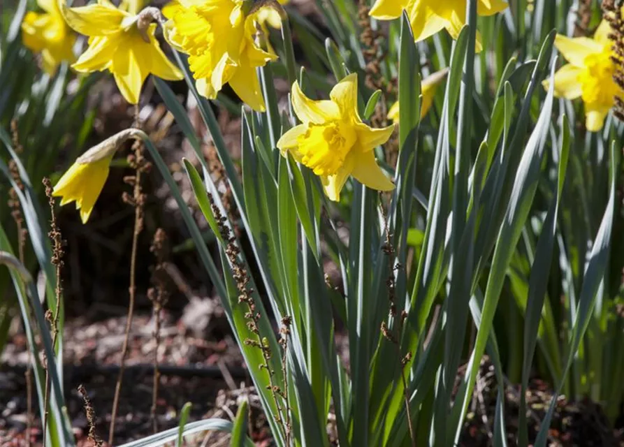
<path fill-rule="evenodd" d="M 152 246 L 150 251 L 156 258 L 156 265 L 152 271 L 152 284 L 154 286 L 147 291 L 147 298 L 152 302 L 154 309 L 154 381 L 152 383 L 152 409 L 150 410 L 150 418 L 152 418 L 152 427 L 154 433 L 158 432 L 158 420 L 156 415 L 156 409 L 158 404 L 158 388 L 160 383 L 160 372 L 158 369 L 158 351 L 160 347 L 160 327 L 161 327 L 161 312 L 166 305 L 169 295 L 167 292 L 168 273 L 166 270 L 166 260 L 168 258 L 167 249 L 167 234 L 162 228 L 158 228 L 154 233 L 154 239 L 152 240 Z"/>

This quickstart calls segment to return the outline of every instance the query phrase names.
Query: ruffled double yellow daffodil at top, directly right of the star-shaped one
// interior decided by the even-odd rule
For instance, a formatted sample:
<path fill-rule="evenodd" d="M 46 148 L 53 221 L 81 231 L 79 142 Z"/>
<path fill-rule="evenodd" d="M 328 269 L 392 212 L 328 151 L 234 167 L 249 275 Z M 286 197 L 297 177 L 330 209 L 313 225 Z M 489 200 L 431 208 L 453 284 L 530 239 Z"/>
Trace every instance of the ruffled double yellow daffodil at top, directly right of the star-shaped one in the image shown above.
<path fill-rule="evenodd" d="M 246 14 L 242 0 L 179 0 L 166 11 L 166 38 L 189 54 L 196 87 L 206 98 L 216 98 L 229 83 L 254 110 L 264 110 L 256 68 L 277 59 L 270 46 L 256 43 L 259 8 Z M 264 36 L 260 36 L 263 38 Z"/>

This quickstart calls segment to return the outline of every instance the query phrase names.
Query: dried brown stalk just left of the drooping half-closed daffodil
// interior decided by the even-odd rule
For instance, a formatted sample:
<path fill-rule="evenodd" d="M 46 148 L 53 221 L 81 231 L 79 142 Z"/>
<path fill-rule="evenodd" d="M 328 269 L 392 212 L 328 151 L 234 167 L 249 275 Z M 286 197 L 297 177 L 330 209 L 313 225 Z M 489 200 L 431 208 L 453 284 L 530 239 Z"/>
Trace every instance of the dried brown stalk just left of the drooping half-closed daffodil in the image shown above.
<path fill-rule="evenodd" d="M 57 284 L 55 287 L 55 313 L 52 316 L 52 312 L 48 309 L 45 312 L 45 318 L 50 321 L 50 329 L 52 330 L 52 349 L 57 348 L 57 337 L 59 335 L 59 317 L 61 315 L 61 269 L 63 268 L 63 239 L 61 232 L 57 225 L 57 218 L 55 216 L 55 198 L 52 197 L 52 184 L 50 179 L 44 178 L 43 184 L 45 185 L 45 195 L 48 196 L 48 203 L 50 204 L 50 240 L 52 240 L 52 258 L 50 262 L 55 265 Z M 43 398 L 43 408 L 45 413 L 43 415 L 43 445 L 45 446 L 45 437 L 48 434 L 48 404 L 50 403 L 50 370 L 48 369 L 48 361 L 44 362 L 45 367 L 45 395 Z"/>

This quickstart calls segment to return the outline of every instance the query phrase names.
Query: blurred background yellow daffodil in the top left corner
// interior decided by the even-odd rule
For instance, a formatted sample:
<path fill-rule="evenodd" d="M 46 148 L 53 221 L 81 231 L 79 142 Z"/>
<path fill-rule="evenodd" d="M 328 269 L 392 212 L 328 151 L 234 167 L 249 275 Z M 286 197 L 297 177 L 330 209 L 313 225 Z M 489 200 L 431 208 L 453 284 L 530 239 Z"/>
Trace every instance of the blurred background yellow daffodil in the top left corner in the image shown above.
<path fill-rule="evenodd" d="M 37 0 L 44 13 L 30 11 L 22 21 L 22 42 L 33 52 L 41 52 L 43 69 L 52 75 L 62 61 L 75 61 L 76 36 L 65 23 L 55 0 Z"/>

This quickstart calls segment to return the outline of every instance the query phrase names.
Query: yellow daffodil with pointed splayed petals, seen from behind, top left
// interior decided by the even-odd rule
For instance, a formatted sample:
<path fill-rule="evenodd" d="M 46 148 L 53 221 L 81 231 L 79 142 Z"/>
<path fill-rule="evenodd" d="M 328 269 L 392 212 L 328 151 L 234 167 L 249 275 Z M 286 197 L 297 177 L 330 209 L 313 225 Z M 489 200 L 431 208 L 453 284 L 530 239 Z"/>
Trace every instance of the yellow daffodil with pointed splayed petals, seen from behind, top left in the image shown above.
<path fill-rule="evenodd" d="M 113 73 L 126 101 L 138 103 L 140 90 L 150 73 L 166 80 L 182 79 L 154 37 L 153 8 L 133 14 L 116 8 L 109 0 L 80 8 L 68 8 L 59 0 L 68 25 L 89 36 L 89 47 L 72 65 L 75 71 Z"/>

